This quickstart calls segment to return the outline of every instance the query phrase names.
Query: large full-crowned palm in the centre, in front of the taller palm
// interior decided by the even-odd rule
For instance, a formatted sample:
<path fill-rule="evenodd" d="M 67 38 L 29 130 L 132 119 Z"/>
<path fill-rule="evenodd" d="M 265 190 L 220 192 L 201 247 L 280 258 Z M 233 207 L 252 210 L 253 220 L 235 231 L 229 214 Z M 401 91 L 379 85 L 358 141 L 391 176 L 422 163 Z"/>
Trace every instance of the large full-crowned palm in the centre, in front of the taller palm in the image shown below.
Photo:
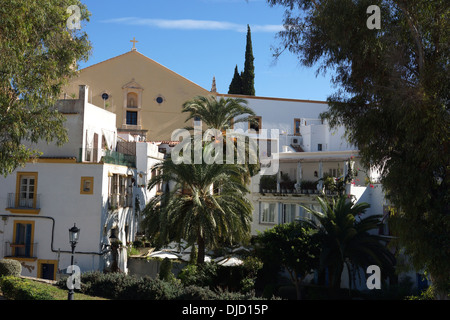
<path fill-rule="evenodd" d="M 149 189 L 171 181 L 169 191 L 154 197 L 144 209 L 144 227 L 158 245 L 186 240 L 197 243 L 197 263 L 205 249 L 222 242 L 250 238 L 253 206 L 242 177 L 245 167 L 228 164 L 174 164 L 167 158 L 153 167 L 162 174 L 153 177 Z"/>

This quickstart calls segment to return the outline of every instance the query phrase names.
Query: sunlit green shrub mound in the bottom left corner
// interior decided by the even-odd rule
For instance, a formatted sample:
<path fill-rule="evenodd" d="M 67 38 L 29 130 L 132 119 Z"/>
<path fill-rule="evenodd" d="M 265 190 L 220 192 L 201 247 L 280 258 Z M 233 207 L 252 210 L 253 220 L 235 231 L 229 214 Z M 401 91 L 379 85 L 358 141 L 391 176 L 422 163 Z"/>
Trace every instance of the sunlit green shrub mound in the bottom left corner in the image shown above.
<path fill-rule="evenodd" d="M 50 292 L 38 283 L 14 276 L 2 277 L 0 287 L 8 300 L 55 300 Z"/>

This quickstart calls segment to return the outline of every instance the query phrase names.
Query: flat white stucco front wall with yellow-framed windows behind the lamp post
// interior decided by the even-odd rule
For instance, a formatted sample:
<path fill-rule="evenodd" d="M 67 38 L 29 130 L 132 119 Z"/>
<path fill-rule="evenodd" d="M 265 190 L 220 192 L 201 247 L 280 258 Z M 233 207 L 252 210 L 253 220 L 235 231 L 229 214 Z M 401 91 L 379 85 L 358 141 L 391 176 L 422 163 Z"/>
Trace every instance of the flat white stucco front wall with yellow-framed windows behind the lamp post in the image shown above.
<path fill-rule="evenodd" d="M 16 192 L 17 172 L 37 173 L 36 193 L 40 195 L 38 214 L 11 213 L 5 210 L 7 194 Z M 95 253 L 100 252 L 102 208 L 107 197 L 103 188 L 104 175 L 104 166 L 99 164 L 30 163 L 6 178 L 0 178 L 0 256 L 8 253 L 5 242 L 15 240 L 14 221 L 34 221 L 33 243 L 37 244 L 34 256 L 38 260 L 59 260 L 59 269 L 65 269 L 70 264 L 70 254 L 58 253 L 58 250 L 71 250 L 69 229 L 76 223 L 81 229 L 76 251 L 94 254 L 76 254 L 74 262 L 82 270 L 98 269 L 100 256 Z M 93 177 L 93 194 L 80 194 L 81 177 Z M 46 217 L 53 218 L 54 227 L 53 220 Z M 34 268 L 24 268 L 23 275 L 36 276 L 37 261 L 28 261 L 26 264 Z"/>

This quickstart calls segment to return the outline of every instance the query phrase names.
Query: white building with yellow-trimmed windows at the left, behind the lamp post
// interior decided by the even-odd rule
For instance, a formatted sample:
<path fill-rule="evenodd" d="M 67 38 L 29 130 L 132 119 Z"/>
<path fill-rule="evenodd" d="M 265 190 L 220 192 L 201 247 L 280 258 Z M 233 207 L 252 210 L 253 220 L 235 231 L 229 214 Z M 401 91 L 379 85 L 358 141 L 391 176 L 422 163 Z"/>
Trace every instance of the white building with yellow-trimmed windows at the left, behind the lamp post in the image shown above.
<path fill-rule="evenodd" d="M 81 272 L 127 272 L 127 245 L 135 240 L 151 166 L 163 159 L 156 145 L 126 142 L 118 152 L 116 115 L 79 98 L 58 101 L 69 142 L 39 145 L 43 155 L 0 178 L 0 259 L 16 259 L 22 275 L 56 279 L 71 263 L 69 229 L 80 229 L 74 264 Z M 122 150 L 123 151 L 123 150 Z M 111 244 L 119 243 L 117 251 Z"/>

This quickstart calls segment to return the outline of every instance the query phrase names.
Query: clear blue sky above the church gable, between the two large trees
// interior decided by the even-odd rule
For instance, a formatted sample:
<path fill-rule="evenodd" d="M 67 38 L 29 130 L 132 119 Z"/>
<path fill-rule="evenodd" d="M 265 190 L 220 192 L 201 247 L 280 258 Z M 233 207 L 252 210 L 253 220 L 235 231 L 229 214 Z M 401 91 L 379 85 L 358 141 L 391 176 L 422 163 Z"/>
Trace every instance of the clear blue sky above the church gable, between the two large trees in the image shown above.
<path fill-rule="evenodd" d="M 335 91 L 330 75 L 299 64 L 284 53 L 277 61 L 284 8 L 266 0 L 83 0 L 91 12 L 83 25 L 93 54 L 81 68 L 132 48 L 210 90 L 227 93 L 238 65 L 243 70 L 247 24 L 252 30 L 257 96 L 326 100 Z"/>

